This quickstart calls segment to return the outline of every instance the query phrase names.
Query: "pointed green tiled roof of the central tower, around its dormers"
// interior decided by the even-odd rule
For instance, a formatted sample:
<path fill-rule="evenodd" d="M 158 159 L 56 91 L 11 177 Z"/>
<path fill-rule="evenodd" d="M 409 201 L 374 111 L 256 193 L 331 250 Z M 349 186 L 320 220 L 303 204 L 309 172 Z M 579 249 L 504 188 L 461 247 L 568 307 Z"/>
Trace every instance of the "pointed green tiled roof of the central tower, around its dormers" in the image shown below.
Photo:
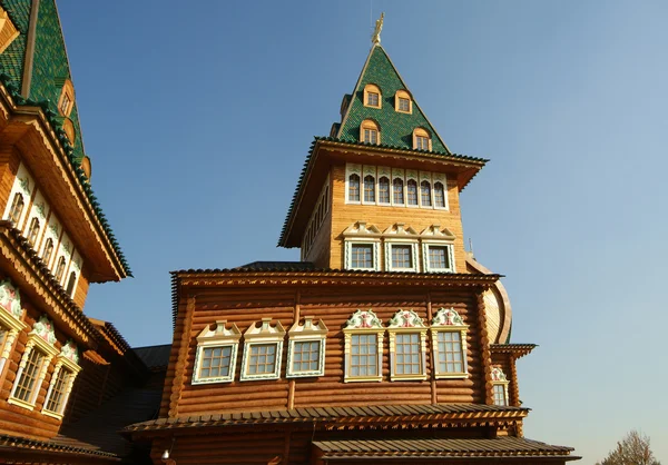
<path fill-rule="evenodd" d="M 381 89 L 381 108 L 364 106 L 364 87 L 369 83 L 373 83 Z M 450 154 L 441 137 L 420 109 L 414 96 L 413 112 L 411 115 L 394 110 L 394 95 L 397 90 L 410 92 L 385 50 L 380 44 L 375 44 L 371 49 L 364 69 L 362 69 L 362 75 L 357 80 L 353 100 L 338 130 L 338 139 L 357 142 L 360 140 L 360 125 L 365 119 L 373 119 L 380 126 L 383 145 L 413 149 L 413 130 L 423 128 L 432 135 L 433 151 Z"/>

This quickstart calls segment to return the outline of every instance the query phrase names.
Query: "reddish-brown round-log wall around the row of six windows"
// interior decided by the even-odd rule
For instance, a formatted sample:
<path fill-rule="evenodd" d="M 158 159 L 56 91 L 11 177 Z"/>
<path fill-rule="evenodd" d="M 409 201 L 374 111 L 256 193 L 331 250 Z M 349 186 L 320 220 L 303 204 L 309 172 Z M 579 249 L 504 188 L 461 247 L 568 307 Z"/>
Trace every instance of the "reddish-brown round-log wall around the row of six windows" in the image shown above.
<path fill-rule="evenodd" d="M 263 317 L 279 320 L 288 330 L 294 324 L 295 304 L 299 294 L 299 314 L 322 318 L 330 329 L 326 340 L 325 375 L 321 377 L 285 377 L 287 343 L 284 344 L 281 378 L 275 380 L 239 382 L 243 358 L 243 339 L 239 344 L 235 380 L 208 385 L 191 385 L 197 335 L 216 320 L 235 323 L 244 333 Z M 381 383 L 344 383 L 344 338 L 342 328 L 356 309 L 372 308 L 384 325 L 400 308 L 413 309 L 425 323 L 429 297 L 425 290 L 414 288 L 393 289 L 303 287 L 277 290 L 271 288 L 207 288 L 196 291 L 190 325 L 184 313 L 177 320 L 176 344 L 173 348 L 170 367 L 166 378 L 163 399 L 163 414 L 167 415 L 169 404 L 178 397 L 178 407 L 173 416 L 197 413 L 232 410 L 284 409 L 291 405 L 291 383 L 294 383 L 295 407 L 344 406 L 344 405 L 387 405 L 387 404 L 431 404 L 432 389 L 438 403 L 484 403 L 484 375 L 481 363 L 481 344 L 477 324 L 477 297 L 474 290 L 438 291 L 431 295 L 431 306 L 435 313 L 440 307 L 454 307 L 470 325 L 468 333 L 469 377 L 466 379 L 441 379 L 433 384 L 431 378 L 431 342 L 428 343 L 426 380 L 390 382 L 389 337 L 385 333 L 383 353 L 383 380 Z M 181 296 L 183 297 L 183 296 Z M 189 327 L 188 327 L 189 326 Z M 186 330 L 187 337 L 184 336 Z M 287 340 L 287 339 L 286 339 Z M 184 342 L 184 363 L 177 359 L 179 344 Z M 181 369 L 181 379 L 175 384 Z M 239 402 L 243 399 L 243 402 Z M 174 407 L 174 405 L 173 405 Z"/>

